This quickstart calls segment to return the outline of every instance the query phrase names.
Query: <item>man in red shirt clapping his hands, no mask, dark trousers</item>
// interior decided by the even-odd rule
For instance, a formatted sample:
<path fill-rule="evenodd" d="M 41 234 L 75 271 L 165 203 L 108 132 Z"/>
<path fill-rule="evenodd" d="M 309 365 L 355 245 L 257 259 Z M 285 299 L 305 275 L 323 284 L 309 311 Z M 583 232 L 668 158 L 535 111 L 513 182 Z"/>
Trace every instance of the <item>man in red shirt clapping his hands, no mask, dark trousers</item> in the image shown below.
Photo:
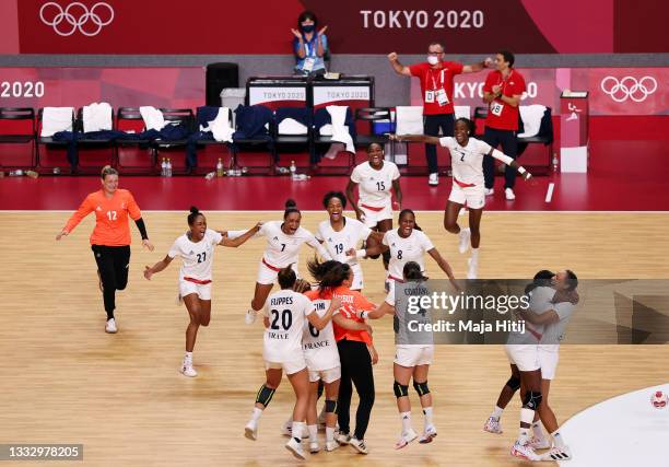
<path fill-rule="evenodd" d="M 483 85 L 483 102 L 489 104 L 485 118 L 485 132 L 483 140 L 496 148 L 502 144 L 502 152 L 516 159 L 518 154 L 518 105 L 525 92 L 525 78 L 514 67 L 514 55 L 508 50 L 501 50 L 495 55 L 495 68 L 485 79 Z M 494 192 L 495 160 L 486 155 L 483 159 L 483 174 L 485 176 L 485 195 Z M 514 185 L 516 171 L 504 171 L 504 194 L 506 199 L 516 199 Z"/>

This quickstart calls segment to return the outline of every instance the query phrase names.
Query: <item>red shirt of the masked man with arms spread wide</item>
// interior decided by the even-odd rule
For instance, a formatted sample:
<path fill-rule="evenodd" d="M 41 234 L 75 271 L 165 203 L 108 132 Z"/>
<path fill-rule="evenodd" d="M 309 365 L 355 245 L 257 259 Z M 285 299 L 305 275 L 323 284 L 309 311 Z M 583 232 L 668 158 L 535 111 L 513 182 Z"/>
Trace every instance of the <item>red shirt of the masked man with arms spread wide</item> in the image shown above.
<path fill-rule="evenodd" d="M 426 61 L 409 67 L 412 77 L 421 80 L 423 94 L 423 115 L 454 114 L 453 107 L 453 79 L 462 72 L 465 66 L 458 61 L 442 61 L 437 68 L 432 68 Z M 438 93 L 444 91 L 445 101 Z"/>

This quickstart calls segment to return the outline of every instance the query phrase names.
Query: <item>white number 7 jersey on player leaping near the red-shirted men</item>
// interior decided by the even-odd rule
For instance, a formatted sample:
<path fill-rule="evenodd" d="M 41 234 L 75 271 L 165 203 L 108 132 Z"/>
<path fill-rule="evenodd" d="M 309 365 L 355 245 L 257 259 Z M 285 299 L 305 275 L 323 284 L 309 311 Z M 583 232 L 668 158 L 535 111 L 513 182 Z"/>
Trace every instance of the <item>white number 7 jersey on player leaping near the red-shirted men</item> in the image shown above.
<path fill-rule="evenodd" d="M 485 141 L 469 138 L 462 148 L 455 138 L 439 138 L 439 144 L 450 152 L 453 178 L 461 184 L 483 186 L 483 156 L 492 150 Z"/>

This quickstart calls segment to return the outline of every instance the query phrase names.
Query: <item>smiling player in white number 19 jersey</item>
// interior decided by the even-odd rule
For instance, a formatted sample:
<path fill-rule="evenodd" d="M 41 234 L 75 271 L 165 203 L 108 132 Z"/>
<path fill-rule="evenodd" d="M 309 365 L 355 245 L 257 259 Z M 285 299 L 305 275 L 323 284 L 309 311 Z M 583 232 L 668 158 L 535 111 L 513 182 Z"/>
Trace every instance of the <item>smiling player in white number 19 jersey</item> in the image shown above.
<path fill-rule="evenodd" d="M 325 244 L 332 259 L 348 262 L 353 270 L 353 284 L 351 290 L 363 289 L 362 267 L 356 257 L 347 256 L 347 252 L 356 248 L 360 242 L 366 242 L 373 246 L 380 242 L 383 234 L 372 232 L 369 227 L 356 219 L 343 215 L 347 207 L 347 198 L 341 191 L 328 191 L 322 198 L 322 206 L 328 211 L 330 219 L 318 224 L 316 240 Z"/>

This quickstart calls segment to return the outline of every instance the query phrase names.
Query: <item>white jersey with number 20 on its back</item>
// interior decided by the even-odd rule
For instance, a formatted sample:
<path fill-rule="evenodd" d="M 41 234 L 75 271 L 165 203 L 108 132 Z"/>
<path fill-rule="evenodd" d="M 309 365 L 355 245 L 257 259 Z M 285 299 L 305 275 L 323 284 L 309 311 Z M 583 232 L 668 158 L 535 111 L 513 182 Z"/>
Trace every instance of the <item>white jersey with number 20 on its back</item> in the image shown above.
<path fill-rule="evenodd" d="M 262 357 L 266 362 L 289 362 L 302 354 L 305 316 L 314 312 L 314 304 L 305 295 L 292 290 L 280 290 L 267 299 Z"/>

